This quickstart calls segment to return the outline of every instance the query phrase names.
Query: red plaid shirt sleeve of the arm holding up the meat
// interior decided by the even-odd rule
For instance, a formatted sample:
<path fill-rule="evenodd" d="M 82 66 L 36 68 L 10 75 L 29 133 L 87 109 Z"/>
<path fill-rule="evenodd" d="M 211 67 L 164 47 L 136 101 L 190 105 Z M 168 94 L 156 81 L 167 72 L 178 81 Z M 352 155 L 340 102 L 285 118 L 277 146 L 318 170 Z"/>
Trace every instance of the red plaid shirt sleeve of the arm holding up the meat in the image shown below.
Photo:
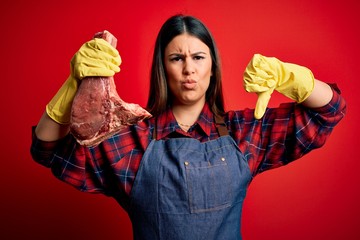
<path fill-rule="evenodd" d="M 34 161 L 80 191 L 106 195 L 129 193 L 148 144 L 147 129 L 140 131 L 139 138 L 136 129 L 139 128 L 128 128 L 88 148 L 78 144 L 70 134 L 59 141 L 42 141 L 33 127 L 30 152 Z"/>

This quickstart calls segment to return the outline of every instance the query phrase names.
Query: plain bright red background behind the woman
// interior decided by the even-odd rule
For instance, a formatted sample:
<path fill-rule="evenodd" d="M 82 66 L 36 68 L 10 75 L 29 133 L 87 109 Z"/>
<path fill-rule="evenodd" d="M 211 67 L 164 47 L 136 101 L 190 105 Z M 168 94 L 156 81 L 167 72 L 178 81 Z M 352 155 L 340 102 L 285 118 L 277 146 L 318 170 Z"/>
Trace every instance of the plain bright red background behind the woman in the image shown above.
<path fill-rule="evenodd" d="M 258 52 L 305 65 L 337 82 L 348 114 L 326 145 L 252 182 L 244 239 L 360 239 L 359 14 L 343 1 L 21 1 L 0 3 L 1 239 L 131 239 L 114 200 L 78 192 L 29 154 L 30 130 L 69 73 L 69 61 L 93 33 L 118 38 L 120 96 L 146 104 L 156 34 L 175 13 L 199 17 L 221 52 L 228 109 L 252 107 L 242 72 Z M 274 95 L 272 106 L 285 99 Z"/>

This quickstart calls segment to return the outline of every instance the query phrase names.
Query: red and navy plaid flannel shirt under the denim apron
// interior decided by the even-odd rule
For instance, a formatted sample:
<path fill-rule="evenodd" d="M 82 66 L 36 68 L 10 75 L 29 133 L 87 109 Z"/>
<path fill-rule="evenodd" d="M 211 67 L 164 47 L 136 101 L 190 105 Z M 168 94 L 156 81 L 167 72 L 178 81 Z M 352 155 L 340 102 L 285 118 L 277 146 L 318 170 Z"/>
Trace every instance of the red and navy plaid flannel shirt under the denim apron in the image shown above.
<path fill-rule="evenodd" d="M 268 108 L 260 120 L 254 119 L 254 110 L 245 109 L 227 112 L 224 121 L 254 177 L 321 147 L 345 110 L 344 99 L 334 90 L 330 103 L 321 108 L 284 103 Z M 205 104 L 198 121 L 184 132 L 168 110 L 157 117 L 157 139 L 216 139 L 219 135 L 213 119 Z M 41 141 L 33 127 L 31 154 L 60 180 L 81 191 L 104 193 L 121 202 L 130 195 L 141 159 L 153 139 L 154 123 L 155 118 L 150 118 L 90 148 L 79 145 L 71 134 L 59 141 Z"/>

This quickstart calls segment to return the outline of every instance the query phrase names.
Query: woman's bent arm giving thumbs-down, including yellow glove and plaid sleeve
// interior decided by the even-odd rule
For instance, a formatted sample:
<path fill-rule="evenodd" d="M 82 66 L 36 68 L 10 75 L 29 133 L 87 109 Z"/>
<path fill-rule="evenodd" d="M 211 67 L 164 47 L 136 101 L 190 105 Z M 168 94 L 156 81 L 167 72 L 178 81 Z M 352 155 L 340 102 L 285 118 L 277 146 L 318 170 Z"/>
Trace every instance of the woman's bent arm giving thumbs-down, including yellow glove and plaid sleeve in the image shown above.
<path fill-rule="evenodd" d="M 316 80 L 306 67 L 276 58 L 254 55 L 244 72 L 244 86 L 258 95 L 255 118 L 261 119 L 266 111 L 258 122 L 261 137 L 253 143 L 256 149 L 250 150 L 249 155 L 253 156 L 249 163 L 256 173 L 282 166 L 321 147 L 345 114 L 345 101 L 337 88 Z M 267 109 L 274 90 L 300 104 Z M 253 131 L 251 134 L 257 136 Z"/>

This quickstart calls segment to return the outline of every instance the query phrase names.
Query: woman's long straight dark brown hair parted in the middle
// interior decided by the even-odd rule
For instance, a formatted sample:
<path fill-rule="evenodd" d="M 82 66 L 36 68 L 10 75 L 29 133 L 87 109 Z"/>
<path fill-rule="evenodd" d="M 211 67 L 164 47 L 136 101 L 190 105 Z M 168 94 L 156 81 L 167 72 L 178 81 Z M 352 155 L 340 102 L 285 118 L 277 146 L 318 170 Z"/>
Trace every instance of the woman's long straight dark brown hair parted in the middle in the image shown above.
<path fill-rule="evenodd" d="M 167 86 L 164 67 L 164 52 L 169 42 L 183 33 L 190 34 L 209 49 L 212 59 L 212 76 L 206 91 L 206 101 L 214 114 L 224 113 L 224 99 L 220 70 L 220 58 L 215 41 L 207 27 L 192 16 L 175 15 L 170 17 L 161 27 L 156 38 L 153 61 L 151 66 L 150 90 L 147 109 L 153 116 L 158 116 L 171 106 L 170 91 Z"/>

